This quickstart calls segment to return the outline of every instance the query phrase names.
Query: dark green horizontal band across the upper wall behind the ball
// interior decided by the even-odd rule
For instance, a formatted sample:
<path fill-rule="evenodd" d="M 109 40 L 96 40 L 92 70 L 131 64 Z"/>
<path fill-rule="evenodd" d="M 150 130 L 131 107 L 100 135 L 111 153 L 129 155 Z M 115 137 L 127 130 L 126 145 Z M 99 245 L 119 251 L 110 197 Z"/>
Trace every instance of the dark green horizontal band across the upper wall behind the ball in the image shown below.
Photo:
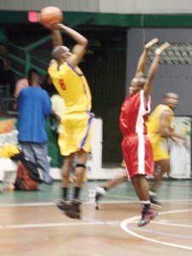
<path fill-rule="evenodd" d="M 65 12 L 64 22 L 70 26 L 191 27 L 191 15 L 117 15 Z M 11 23 L 29 23 L 28 13 L 26 11 L 0 11 L 0 25 Z"/>

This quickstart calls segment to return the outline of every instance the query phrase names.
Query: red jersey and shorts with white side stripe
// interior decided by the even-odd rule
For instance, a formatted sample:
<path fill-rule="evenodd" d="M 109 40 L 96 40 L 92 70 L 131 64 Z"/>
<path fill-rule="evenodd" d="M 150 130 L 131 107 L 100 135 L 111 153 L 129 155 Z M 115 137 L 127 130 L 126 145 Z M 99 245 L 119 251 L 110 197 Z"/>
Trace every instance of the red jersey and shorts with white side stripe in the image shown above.
<path fill-rule="evenodd" d="M 150 99 L 144 108 L 144 90 L 128 96 L 121 108 L 121 143 L 128 176 L 153 175 L 154 161 L 150 139 L 146 136 L 145 120 L 150 113 Z"/>

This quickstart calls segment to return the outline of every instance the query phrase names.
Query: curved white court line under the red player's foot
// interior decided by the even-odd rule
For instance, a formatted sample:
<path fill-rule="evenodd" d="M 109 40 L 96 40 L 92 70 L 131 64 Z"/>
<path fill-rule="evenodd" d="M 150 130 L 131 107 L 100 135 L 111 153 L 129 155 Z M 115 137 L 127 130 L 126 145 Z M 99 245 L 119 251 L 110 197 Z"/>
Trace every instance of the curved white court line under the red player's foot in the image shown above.
<path fill-rule="evenodd" d="M 160 212 L 159 215 L 182 213 L 182 212 L 192 212 L 192 209 L 183 209 L 183 210 L 173 210 L 173 211 Z M 125 219 L 120 224 L 121 229 L 125 230 L 127 233 L 129 233 L 133 236 L 136 236 L 140 239 L 143 239 L 143 240 L 152 241 L 152 242 L 159 243 L 159 244 L 162 244 L 162 245 L 167 245 L 167 246 L 170 246 L 170 247 L 178 247 L 178 248 L 183 248 L 183 249 L 192 251 L 192 247 L 186 247 L 186 246 L 182 246 L 182 245 L 178 245 L 178 244 L 173 244 L 173 243 L 170 243 L 170 242 L 167 242 L 167 241 L 158 241 L 158 240 L 146 237 L 146 236 L 140 236 L 137 233 L 130 230 L 129 228 L 127 228 L 127 224 L 131 224 L 131 223 L 135 222 L 138 219 L 140 219 L 140 216 Z M 151 221 L 151 222 L 153 222 L 153 221 Z M 162 224 L 162 223 L 157 222 L 157 224 Z"/>

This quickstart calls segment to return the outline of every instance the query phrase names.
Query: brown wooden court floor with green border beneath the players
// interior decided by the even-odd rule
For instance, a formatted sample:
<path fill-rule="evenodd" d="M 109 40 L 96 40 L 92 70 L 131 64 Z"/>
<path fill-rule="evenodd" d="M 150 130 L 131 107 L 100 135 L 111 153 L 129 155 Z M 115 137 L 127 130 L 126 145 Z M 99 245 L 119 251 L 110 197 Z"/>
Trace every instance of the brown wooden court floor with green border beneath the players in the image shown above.
<path fill-rule="evenodd" d="M 99 211 L 82 189 L 82 219 L 66 217 L 54 207 L 60 182 L 36 192 L 0 195 L 0 253 L 3 256 L 192 255 L 192 181 L 165 180 L 158 216 L 138 228 L 140 204 L 130 183 L 104 195 Z"/>

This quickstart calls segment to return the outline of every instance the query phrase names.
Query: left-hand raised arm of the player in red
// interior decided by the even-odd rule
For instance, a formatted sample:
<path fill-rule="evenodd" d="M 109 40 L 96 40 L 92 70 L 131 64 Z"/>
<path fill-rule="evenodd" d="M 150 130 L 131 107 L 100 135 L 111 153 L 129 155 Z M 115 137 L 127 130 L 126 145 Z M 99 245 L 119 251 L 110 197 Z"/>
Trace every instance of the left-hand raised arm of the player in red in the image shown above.
<path fill-rule="evenodd" d="M 143 51 L 142 55 L 140 56 L 140 58 L 138 60 L 138 67 L 137 67 L 137 71 L 135 73 L 136 78 L 144 76 L 144 70 L 145 70 L 145 67 L 146 67 L 148 51 L 157 42 L 158 42 L 158 39 L 153 38 L 149 43 L 144 45 L 144 51 Z"/>

